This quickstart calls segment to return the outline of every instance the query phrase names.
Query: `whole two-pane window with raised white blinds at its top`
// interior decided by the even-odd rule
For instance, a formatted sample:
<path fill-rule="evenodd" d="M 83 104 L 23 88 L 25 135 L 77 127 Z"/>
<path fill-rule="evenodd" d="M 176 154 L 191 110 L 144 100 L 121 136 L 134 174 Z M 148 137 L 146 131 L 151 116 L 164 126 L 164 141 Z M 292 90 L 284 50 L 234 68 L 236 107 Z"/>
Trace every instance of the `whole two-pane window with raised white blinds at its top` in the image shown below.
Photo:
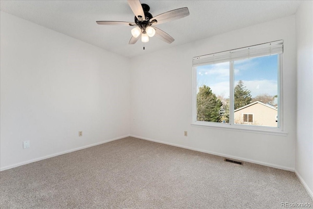
<path fill-rule="evenodd" d="M 193 124 L 282 131 L 283 41 L 193 58 Z"/>

